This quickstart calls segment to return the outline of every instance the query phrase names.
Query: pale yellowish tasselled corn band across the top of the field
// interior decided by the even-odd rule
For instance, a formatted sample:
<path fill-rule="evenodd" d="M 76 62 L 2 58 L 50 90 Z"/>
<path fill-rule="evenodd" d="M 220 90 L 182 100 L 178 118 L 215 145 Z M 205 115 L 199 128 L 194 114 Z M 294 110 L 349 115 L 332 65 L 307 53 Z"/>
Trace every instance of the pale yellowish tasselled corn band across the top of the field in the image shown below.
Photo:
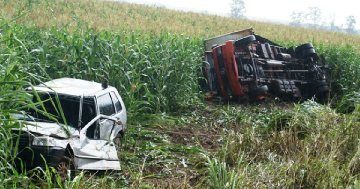
<path fill-rule="evenodd" d="M 69 33 L 91 28 L 95 32 L 114 31 L 159 34 L 171 32 L 193 37 L 213 37 L 252 27 L 258 35 L 279 41 L 346 45 L 359 48 L 360 37 L 345 33 L 309 30 L 279 24 L 239 20 L 217 15 L 167 10 L 162 7 L 120 3 L 106 0 L 1 0 L 0 12 L 10 20 L 28 10 L 19 24 L 40 30 L 67 28 Z M 79 28 L 80 26 L 80 28 Z"/>

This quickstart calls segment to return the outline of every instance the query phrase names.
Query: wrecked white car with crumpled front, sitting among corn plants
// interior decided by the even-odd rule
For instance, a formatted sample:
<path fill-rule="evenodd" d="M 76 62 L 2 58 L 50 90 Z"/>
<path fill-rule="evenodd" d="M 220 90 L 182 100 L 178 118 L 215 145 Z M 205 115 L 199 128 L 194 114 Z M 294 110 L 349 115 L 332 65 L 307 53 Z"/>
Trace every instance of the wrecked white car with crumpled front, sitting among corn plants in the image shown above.
<path fill-rule="evenodd" d="M 60 78 L 34 88 L 37 108 L 14 115 L 24 122 L 21 129 L 12 130 L 17 168 L 46 163 L 62 179 L 67 179 L 68 170 L 121 169 L 118 151 L 126 131 L 126 109 L 114 87 Z"/>

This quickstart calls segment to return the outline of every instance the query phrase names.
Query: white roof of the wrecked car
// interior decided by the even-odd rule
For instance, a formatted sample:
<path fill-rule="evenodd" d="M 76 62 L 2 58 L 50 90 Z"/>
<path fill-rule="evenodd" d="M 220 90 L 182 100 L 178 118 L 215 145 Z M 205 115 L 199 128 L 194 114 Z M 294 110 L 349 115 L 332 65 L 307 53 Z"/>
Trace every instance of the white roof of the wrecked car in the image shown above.
<path fill-rule="evenodd" d="M 73 96 L 94 96 L 96 93 L 103 91 L 100 83 L 67 77 L 48 81 L 44 84 L 34 86 L 34 89 L 36 91 L 56 92 Z M 28 87 L 27 90 L 31 90 L 31 87 Z"/>

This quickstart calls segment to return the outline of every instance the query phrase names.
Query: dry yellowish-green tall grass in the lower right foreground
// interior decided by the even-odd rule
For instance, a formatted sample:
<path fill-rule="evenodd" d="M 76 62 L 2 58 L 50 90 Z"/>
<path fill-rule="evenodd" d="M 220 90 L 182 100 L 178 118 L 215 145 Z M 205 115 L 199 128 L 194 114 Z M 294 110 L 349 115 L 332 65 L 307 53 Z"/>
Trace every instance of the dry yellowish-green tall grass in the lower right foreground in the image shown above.
<path fill-rule="evenodd" d="M 217 175 L 209 172 L 210 184 L 226 183 L 223 180 L 230 179 L 235 169 L 240 188 L 356 187 L 360 146 L 358 110 L 348 115 L 338 114 L 327 105 L 307 101 L 276 114 L 271 114 L 274 109 L 268 109 L 269 116 L 273 115 L 269 121 L 244 108 L 237 109 L 242 117 L 247 117 L 244 114 L 253 117 L 247 121 L 260 121 L 238 125 L 236 128 L 241 127 L 241 131 L 229 133 L 216 155 L 224 160 L 208 164 L 210 170 L 220 169 Z M 226 112 L 227 117 L 238 116 L 236 112 Z M 275 122 L 280 124 L 276 120 L 282 114 L 292 115 L 286 116 L 287 127 L 273 129 Z M 264 127 L 264 122 L 269 125 Z M 224 172 L 222 169 L 228 175 L 219 177 Z"/>

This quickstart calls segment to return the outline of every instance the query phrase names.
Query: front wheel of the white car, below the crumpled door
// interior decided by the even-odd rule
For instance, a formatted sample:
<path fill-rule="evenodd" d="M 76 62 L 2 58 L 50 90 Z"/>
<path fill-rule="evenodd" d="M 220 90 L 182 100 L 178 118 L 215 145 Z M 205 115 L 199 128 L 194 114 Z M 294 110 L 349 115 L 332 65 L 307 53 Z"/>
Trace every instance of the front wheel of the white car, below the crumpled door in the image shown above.
<path fill-rule="evenodd" d="M 58 176 L 60 177 L 61 184 L 64 184 L 68 179 L 68 171 L 71 171 L 70 177 L 73 179 L 75 177 L 75 164 L 73 160 L 67 156 L 64 156 L 60 159 L 58 165 L 56 166 L 58 171 Z"/>

